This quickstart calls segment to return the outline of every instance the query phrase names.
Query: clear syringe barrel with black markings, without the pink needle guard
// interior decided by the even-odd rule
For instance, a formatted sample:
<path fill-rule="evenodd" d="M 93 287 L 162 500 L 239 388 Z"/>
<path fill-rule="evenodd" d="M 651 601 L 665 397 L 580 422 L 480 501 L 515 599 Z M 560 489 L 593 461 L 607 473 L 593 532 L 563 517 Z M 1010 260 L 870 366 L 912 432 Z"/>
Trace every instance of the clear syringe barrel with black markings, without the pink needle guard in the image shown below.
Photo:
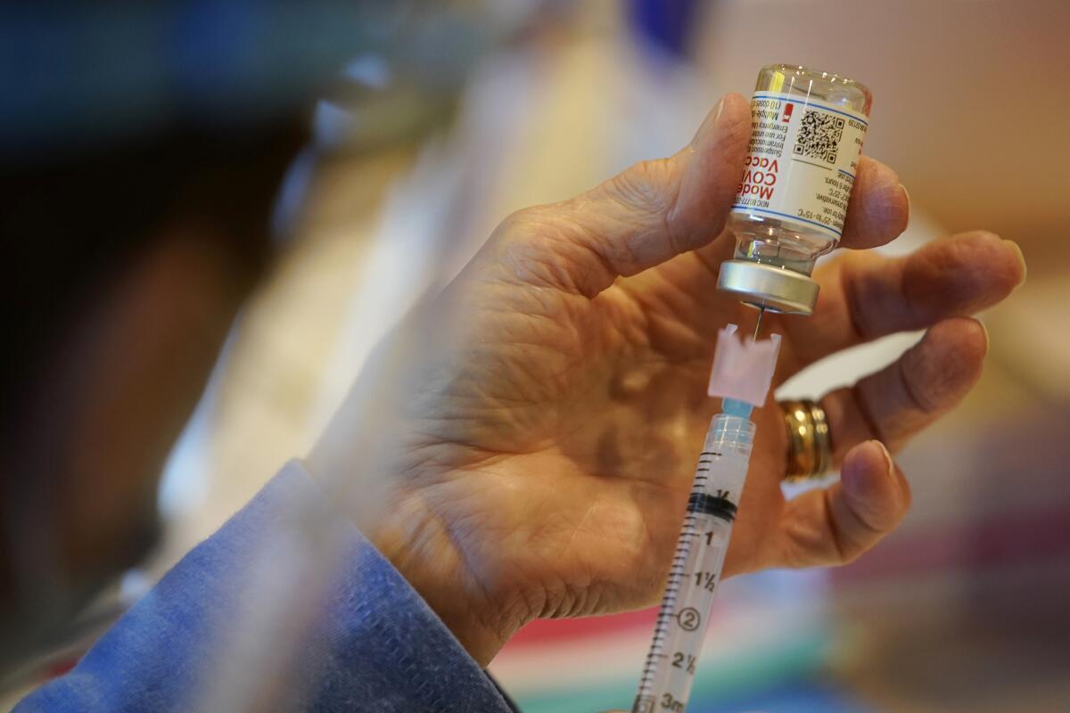
<path fill-rule="evenodd" d="M 632 713 L 683 711 L 747 478 L 751 405 L 725 399 L 706 432 Z"/>

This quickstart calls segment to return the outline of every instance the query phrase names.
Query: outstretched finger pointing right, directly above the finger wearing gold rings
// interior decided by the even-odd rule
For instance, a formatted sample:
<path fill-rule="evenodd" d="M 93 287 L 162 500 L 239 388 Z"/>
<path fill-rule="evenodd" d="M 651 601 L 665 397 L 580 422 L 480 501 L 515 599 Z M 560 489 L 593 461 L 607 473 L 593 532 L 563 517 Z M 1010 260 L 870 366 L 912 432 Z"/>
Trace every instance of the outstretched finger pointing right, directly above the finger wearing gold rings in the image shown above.
<path fill-rule="evenodd" d="M 781 323 L 791 338 L 782 358 L 788 374 L 877 337 L 991 307 L 1021 284 L 1025 262 L 1014 243 L 975 231 L 906 258 L 844 254 L 814 277 L 822 288 L 813 315 Z"/>

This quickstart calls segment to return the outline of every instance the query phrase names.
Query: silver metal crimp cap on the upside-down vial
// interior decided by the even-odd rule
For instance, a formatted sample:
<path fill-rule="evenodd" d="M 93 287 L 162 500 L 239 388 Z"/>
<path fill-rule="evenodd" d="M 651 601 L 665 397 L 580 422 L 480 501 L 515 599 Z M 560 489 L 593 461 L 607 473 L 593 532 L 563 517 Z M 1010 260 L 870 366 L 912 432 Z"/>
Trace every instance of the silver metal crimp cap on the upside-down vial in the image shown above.
<path fill-rule="evenodd" d="M 717 289 L 754 307 L 790 314 L 813 314 L 820 288 L 806 275 L 785 267 L 729 260 L 721 263 Z"/>

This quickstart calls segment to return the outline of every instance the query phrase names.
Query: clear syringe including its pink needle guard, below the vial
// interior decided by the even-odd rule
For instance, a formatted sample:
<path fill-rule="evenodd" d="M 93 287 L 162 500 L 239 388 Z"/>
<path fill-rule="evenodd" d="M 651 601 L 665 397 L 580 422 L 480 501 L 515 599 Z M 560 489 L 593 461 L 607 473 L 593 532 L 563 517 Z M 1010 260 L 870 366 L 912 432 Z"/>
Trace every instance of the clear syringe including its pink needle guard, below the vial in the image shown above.
<path fill-rule="evenodd" d="M 735 332 L 729 325 L 717 340 L 709 393 L 723 398 L 722 412 L 710 421 L 699 455 L 632 713 L 679 713 L 694 682 L 750 464 L 752 404 L 765 401 L 780 347 L 776 335 L 742 342 Z"/>

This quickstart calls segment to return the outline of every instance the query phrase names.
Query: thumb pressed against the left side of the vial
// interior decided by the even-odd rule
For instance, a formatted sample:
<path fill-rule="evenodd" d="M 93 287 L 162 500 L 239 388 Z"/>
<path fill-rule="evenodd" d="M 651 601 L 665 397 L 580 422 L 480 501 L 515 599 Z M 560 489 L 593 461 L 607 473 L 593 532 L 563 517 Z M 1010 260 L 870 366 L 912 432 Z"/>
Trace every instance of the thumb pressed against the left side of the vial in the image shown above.
<path fill-rule="evenodd" d="M 548 276 L 555 286 L 593 297 L 618 276 L 720 234 L 743 177 L 750 131 L 747 100 L 728 94 L 676 154 L 640 161 L 571 200 L 521 211 L 509 228 L 520 228 L 525 258 L 555 266 Z"/>

